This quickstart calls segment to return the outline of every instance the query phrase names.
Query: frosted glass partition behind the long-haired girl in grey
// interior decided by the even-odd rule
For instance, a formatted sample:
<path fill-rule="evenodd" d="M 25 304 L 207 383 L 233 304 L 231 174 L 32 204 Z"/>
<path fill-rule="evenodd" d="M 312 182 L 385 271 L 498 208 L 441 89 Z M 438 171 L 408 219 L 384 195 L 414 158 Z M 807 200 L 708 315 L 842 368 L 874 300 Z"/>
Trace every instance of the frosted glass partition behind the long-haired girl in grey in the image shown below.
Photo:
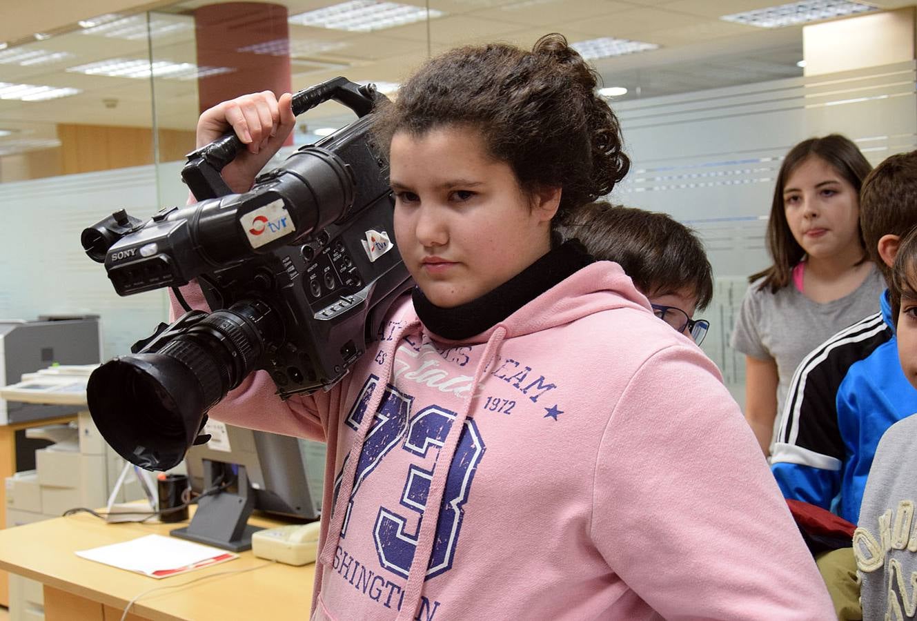
<path fill-rule="evenodd" d="M 764 247 L 780 161 L 802 139 L 838 132 L 873 164 L 917 146 L 915 63 L 613 103 L 634 165 L 613 200 L 694 227 L 713 263 L 703 349 L 740 403 L 744 357 L 728 347 L 746 276 Z"/>

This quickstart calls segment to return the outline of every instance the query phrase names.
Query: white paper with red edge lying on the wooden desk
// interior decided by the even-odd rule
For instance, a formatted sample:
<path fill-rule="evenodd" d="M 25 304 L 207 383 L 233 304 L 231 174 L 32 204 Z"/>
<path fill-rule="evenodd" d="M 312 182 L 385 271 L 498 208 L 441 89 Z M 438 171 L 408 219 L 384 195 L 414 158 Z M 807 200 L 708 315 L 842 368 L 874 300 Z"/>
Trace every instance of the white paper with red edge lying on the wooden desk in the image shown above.
<path fill-rule="evenodd" d="M 238 554 L 225 549 L 161 535 L 147 535 L 110 546 L 84 549 L 77 551 L 76 555 L 123 570 L 138 571 L 152 578 L 166 578 L 238 558 Z"/>

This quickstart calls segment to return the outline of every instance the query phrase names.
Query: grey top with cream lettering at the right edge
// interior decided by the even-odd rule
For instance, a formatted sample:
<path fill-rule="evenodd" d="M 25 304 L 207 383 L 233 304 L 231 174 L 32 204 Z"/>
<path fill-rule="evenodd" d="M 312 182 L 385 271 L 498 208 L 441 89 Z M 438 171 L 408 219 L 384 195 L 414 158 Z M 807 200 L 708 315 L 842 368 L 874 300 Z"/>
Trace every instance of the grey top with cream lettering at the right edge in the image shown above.
<path fill-rule="evenodd" d="M 864 621 L 913 619 L 917 602 L 917 415 L 903 418 L 885 432 L 869 470 L 854 557 L 860 573 Z M 900 612 L 898 612 L 900 611 Z M 897 614 L 896 614 L 897 613 Z"/>

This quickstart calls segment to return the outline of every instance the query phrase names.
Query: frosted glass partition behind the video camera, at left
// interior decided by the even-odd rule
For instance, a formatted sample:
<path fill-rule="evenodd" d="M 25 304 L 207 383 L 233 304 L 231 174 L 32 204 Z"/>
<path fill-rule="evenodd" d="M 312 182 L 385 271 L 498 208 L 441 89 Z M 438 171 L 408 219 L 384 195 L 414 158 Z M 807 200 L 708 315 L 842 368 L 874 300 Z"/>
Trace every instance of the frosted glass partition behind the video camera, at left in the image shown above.
<path fill-rule="evenodd" d="M 128 353 L 167 319 L 162 291 L 119 297 L 80 233 L 117 209 L 147 218 L 159 202 L 183 205 L 182 162 L 0 184 L 0 317 L 101 316 L 105 359 Z M 159 176 L 160 182 L 157 183 Z M 162 198 L 158 198 L 157 184 Z"/>

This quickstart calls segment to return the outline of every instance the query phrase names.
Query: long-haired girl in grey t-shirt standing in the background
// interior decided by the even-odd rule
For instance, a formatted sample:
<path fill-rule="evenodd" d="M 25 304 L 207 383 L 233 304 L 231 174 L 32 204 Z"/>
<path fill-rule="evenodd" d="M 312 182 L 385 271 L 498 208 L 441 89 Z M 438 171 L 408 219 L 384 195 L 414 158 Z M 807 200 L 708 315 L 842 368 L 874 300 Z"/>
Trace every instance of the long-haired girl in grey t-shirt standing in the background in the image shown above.
<path fill-rule="evenodd" d="M 780 166 L 767 232 L 773 265 L 749 278 L 732 339 L 746 354 L 746 420 L 766 455 L 801 360 L 878 308 L 885 283 L 859 227 L 859 190 L 870 170 L 837 134 L 804 140 Z"/>

